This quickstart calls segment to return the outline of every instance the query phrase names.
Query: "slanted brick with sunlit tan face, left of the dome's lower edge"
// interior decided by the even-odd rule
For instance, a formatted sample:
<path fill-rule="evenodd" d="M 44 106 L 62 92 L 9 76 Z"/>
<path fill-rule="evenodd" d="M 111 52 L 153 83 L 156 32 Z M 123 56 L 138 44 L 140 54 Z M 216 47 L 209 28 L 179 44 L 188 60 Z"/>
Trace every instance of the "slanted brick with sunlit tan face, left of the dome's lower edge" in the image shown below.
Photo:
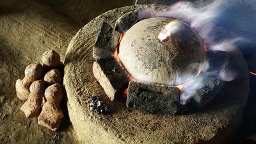
<path fill-rule="evenodd" d="M 121 95 L 129 83 L 129 77 L 124 68 L 116 62 L 115 58 L 95 61 L 93 74 L 110 100 L 114 100 L 116 95 Z"/>

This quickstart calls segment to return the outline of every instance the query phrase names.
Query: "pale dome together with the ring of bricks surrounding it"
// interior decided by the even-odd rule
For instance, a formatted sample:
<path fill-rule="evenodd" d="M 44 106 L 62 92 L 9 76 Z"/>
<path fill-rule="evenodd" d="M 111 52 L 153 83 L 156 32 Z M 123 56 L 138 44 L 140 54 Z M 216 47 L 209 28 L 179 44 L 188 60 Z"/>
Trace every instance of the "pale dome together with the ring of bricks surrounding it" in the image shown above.
<path fill-rule="evenodd" d="M 200 63 L 207 60 L 216 72 L 224 72 L 228 54 L 206 52 L 207 46 L 185 22 L 166 17 L 139 21 L 139 11 L 122 15 L 115 28 L 102 22 L 93 47 L 93 74 L 109 99 L 126 97 L 128 108 L 157 115 L 175 115 L 211 102 L 225 81 L 200 71 Z M 173 79 L 186 70 L 191 71 L 190 80 L 174 85 Z M 201 77 L 204 82 L 196 81 Z M 193 90 L 195 83 L 204 84 Z M 182 95 L 189 90 L 195 92 Z"/>

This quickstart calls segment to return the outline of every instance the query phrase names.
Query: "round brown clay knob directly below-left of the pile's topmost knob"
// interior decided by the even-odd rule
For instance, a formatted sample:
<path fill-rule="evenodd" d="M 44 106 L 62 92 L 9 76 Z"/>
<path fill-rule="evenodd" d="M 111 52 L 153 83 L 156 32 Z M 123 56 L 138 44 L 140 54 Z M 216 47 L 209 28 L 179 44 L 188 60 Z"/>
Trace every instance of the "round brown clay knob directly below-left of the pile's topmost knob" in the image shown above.
<path fill-rule="evenodd" d="M 25 69 L 25 77 L 33 82 L 42 77 L 43 67 L 40 64 L 30 64 Z"/>

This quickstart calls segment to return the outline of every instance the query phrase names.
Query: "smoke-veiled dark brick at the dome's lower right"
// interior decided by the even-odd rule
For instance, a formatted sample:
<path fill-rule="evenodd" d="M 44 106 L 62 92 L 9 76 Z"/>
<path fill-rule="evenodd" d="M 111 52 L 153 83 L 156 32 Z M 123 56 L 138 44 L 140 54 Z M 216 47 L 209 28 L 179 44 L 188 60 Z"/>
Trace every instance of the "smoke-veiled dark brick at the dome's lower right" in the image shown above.
<path fill-rule="evenodd" d="M 202 76 L 201 76 L 202 77 Z M 202 108 L 211 102 L 212 99 L 220 92 L 223 88 L 225 81 L 221 81 L 215 77 L 207 77 L 204 80 L 205 84 L 200 88 L 196 89 L 195 94 L 189 99 L 188 104 L 196 108 Z M 194 84 L 194 83 L 191 83 Z M 185 91 L 189 89 L 191 84 L 185 85 Z"/>

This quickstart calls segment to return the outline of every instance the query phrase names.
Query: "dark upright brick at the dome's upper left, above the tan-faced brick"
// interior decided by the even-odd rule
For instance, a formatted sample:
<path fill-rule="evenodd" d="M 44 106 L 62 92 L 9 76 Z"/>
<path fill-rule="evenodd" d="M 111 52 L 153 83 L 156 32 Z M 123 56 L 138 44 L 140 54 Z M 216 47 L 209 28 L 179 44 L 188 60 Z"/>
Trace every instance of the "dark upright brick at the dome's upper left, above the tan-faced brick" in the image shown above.
<path fill-rule="evenodd" d="M 103 22 L 99 36 L 93 47 L 93 59 L 112 57 L 118 43 L 120 34 L 115 31 L 108 23 Z"/>

